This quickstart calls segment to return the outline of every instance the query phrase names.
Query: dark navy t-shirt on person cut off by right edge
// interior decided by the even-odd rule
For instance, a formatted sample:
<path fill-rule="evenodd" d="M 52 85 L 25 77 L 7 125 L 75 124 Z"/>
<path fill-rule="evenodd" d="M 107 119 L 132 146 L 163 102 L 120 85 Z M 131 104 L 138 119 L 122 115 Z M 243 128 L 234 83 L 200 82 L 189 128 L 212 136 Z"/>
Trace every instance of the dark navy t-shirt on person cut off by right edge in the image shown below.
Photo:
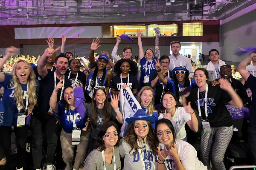
<path fill-rule="evenodd" d="M 250 122 L 249 125 L 256 127 L 256 77 L 252 74 L 247 79 L 247 86 L 252 91 L 252 104 L 250 109 Z"/>

